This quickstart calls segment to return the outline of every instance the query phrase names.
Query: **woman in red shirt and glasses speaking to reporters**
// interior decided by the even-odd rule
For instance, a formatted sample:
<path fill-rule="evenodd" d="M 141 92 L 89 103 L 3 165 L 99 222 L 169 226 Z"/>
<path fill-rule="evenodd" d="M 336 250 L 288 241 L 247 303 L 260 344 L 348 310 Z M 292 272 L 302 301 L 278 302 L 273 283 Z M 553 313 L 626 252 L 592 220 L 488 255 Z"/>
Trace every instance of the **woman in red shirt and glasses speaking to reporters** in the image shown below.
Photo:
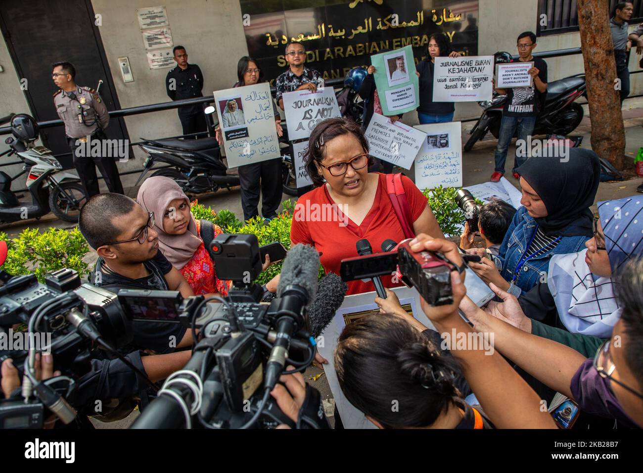
<path fill-rule="evenodd" d="M 340 274 L 341 260 L 358 256 L 356 243 L 363 238 L 374 253 L 381 252 L 386 239 L 404 239 L 386 191 L 386 175 L 368 172 L 368 142 L 357 124 L 343 118 L 324 120 L 312 131 L 303 159 L 318 187 L 297 201 L 290 237 L 293 245 L 305 243 L 321 252 L 325 272 Z M 426 197 L 406 176 L 402 185 L 413 232 L 444 238 Z M 385 287 L 400 286 L 390 275 L 381 279 Z M 352 281 L 347 294 L 373 290 L 371 281 Z"/>

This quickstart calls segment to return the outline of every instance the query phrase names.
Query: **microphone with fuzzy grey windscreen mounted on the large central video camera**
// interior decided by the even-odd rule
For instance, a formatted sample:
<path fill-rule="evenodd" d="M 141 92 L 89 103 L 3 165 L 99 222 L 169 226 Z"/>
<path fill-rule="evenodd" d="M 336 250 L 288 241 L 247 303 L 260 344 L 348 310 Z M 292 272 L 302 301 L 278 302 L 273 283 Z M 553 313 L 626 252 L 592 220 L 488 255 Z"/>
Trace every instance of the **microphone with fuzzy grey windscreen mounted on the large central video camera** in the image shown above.
<path fill-rule="evenodd" d="M 276 340 L 266 364 L 264 387 L 272 390 L 284 371 L 290 337 L 305 324 L 303 307 L 317 293 L 320 257 L 312 246 L 294 245 L 284 259 L 277 286 Z"/>

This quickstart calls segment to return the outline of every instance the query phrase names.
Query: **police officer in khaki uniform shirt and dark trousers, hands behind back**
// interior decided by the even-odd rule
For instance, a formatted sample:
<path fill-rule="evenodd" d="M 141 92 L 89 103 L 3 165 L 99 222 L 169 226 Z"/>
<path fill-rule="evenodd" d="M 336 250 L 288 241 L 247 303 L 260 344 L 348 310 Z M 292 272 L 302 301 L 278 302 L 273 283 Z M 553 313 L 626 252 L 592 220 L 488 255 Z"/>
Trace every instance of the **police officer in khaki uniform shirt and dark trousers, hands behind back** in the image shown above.
<path fill-rule="evenodd" d="M 60 88 L 53 95 L 53 105 L 65 124 L 65 133 L 73 154 L 74 166 L 85 187 L 87 198 L 100 194 L 96 166 L 100 169 L 109 192 L 124 194 L 114 158 L 89 156 L 92 153 L 87 153 L 88 148 L 98 148 L 93 144 L 93 140 L 107 138 L 104 129 L 109 124 L 109 114 L 100 95 L 89 87 L 78 87 L 74 80 L 75 76 L 76 70 L 69 62 L 57 62 L 53 65 L 53 82 Z M 92 140 L 89 146 L 88 139 Z M 85 153 L 77 151 L 80 146 L 84 147 Z M 104 147 L 100 146 L 100 149 L 102 151 Z"/>

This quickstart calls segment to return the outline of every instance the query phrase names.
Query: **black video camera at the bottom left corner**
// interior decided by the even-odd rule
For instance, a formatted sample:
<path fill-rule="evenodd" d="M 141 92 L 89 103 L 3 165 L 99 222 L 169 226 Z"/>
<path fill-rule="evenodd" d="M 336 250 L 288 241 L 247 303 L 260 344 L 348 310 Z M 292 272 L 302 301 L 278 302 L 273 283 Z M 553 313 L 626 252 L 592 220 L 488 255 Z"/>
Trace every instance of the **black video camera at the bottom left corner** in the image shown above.
<path fill-rule="evenodd" d="M 81 284 L 73 270 L 48 274 L 45 284 L 33 274 L 1 272 L 0 280 L 0 363 L 12 358 L 19 376 L 27 373 L 23 398 L 0 402 L 0 427 L 41 428 L 46 409 L 69 423 L 76 411 L 68 402 L 73 404 L 76 382 L 91 368 L 91 341 L 123 346 L 132 340 L 131 324 L 114 293 Z M 62 375 L 33 379 L 37 351 L 51 353 Z"/>

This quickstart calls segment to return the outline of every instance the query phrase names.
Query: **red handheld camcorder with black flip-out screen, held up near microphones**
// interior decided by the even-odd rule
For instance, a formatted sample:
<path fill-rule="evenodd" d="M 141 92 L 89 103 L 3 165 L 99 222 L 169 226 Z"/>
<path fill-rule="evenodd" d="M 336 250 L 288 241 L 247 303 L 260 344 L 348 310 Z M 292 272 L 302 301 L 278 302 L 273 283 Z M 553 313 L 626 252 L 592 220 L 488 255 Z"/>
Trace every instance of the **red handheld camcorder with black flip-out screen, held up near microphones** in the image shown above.
<path fill-rule="evenodd" d="M 397 250 L 386 251 L 386 246 L 395 246 L 395 242 L 383 243 L 384 253 L 358 256 L 341 260 L 340 275 L 344 281 L 371 279 L 376 276 L 401 272 L 401 281 L 408 287 L 414 287 L 424 301 L 431 306 L 453 304 L 451 292 L 451 271 L 462 272 L 461 268 L 451 263 L 444 255 L 428 251 L 415 253 L 409 245 L 410 239 L 397 245 Z"/>

